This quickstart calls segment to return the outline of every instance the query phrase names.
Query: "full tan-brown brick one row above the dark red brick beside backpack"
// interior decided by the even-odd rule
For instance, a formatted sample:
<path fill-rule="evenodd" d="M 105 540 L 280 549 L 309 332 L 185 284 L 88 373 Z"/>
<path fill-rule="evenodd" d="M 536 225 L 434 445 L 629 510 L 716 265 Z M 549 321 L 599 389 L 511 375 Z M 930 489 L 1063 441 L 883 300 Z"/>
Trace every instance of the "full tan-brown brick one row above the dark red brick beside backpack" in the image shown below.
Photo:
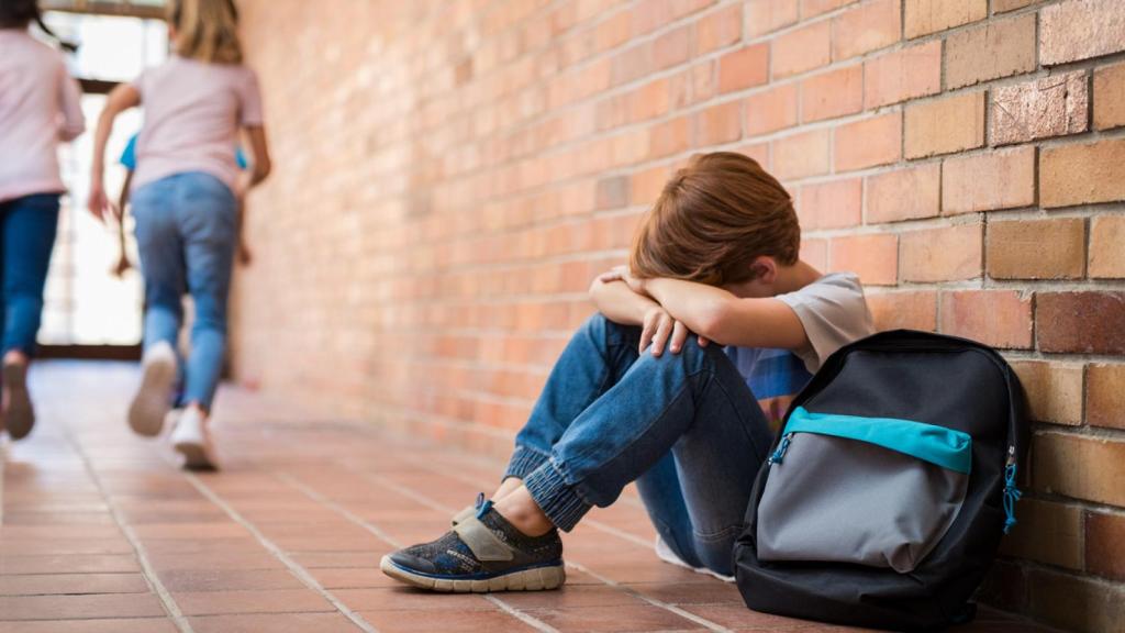
<path fill-rule="evenodd" d="M 988 274 L 993 279 L 1073 279 L 1086 268 L 1086 221 L 989 222 Z"/>

